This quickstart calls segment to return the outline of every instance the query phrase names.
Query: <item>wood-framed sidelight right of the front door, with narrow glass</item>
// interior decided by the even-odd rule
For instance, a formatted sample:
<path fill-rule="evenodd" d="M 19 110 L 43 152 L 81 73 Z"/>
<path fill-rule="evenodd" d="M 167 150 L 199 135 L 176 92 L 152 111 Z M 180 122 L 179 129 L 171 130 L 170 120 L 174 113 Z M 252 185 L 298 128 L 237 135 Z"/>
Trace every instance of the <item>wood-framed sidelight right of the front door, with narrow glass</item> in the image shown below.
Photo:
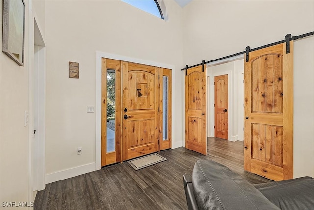
<path fill-rule="evenodd" d="M 160 150 L 171 148 L 171 70 L 159 68 L 160 83 Z"/>

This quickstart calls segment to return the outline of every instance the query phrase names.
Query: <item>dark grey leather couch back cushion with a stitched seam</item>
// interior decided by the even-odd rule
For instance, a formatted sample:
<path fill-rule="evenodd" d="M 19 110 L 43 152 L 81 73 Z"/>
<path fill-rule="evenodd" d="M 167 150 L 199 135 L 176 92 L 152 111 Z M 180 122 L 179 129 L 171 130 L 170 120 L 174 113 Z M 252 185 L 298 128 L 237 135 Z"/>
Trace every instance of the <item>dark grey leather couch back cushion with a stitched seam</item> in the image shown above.
<path fill-rule="evenodd" d="M 214 161 L 197 161 L 192 178 L 200 210 L 279 210 L 239 174 Z"/>

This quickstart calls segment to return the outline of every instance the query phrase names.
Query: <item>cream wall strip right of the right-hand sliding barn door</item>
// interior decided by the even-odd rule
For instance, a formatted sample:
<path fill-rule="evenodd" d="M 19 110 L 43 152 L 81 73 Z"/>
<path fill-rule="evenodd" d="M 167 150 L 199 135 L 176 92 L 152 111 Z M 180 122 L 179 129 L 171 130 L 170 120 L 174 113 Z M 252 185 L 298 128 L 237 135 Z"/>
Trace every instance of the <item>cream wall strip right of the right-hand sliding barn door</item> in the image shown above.
<path fill-rule="evenodd" d="M 294 42 L 294 177 L 314 177 L 314 37 Z"/>

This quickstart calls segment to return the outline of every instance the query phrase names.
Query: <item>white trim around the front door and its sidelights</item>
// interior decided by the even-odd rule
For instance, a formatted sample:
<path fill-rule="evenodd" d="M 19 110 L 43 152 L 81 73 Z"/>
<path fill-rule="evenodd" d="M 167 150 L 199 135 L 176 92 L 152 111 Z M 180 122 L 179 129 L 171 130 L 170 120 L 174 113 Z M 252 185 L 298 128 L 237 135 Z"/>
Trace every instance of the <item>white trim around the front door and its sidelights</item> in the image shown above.
<path fill-rule="evenodd" d="M 96 115 L 96 144 L 95 144 L 95 170 L 101 169 L 101 100 L 102 100 L 102 58 L 115 59 L 115 60 L 123 60 L 128 62 L 140 63 L 145 65 L 157 66 L 162 68 L 168 68 L 172 71 L 175 69 L 174 65 L 159 63 L 150 60 L 142 60 L 137 58 L 131 58 L 127 56 L 121 56 L 111 53 L 105 53 L 96 51 L 96 105 L 95 105 L 95 115 Z M 172 86 L 172 90 L 173 90 Z M 172 113 L 173 116 L 173 113 Z M 174 131 L 172 130 L 171 133 Z M 173 147 L 172 141 L 172 147 Z"/>

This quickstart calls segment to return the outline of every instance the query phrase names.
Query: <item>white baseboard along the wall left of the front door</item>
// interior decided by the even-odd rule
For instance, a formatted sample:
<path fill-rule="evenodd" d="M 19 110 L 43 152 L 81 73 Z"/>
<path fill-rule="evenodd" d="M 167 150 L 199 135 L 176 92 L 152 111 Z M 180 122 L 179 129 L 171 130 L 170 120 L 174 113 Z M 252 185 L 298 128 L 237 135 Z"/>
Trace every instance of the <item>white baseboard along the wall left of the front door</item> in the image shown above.
<path fill-rule="evenodd" d="M 95 171 L 95 163 L 89 163 L 75 168 L 70 168 L 62 171 L 53 172 L 51 174 L 46 174 L 45 180 L 46 184 L 49 184 L 55 181 L 65 180 L 81 174 L 86 174 L 92 171 Z"/>

